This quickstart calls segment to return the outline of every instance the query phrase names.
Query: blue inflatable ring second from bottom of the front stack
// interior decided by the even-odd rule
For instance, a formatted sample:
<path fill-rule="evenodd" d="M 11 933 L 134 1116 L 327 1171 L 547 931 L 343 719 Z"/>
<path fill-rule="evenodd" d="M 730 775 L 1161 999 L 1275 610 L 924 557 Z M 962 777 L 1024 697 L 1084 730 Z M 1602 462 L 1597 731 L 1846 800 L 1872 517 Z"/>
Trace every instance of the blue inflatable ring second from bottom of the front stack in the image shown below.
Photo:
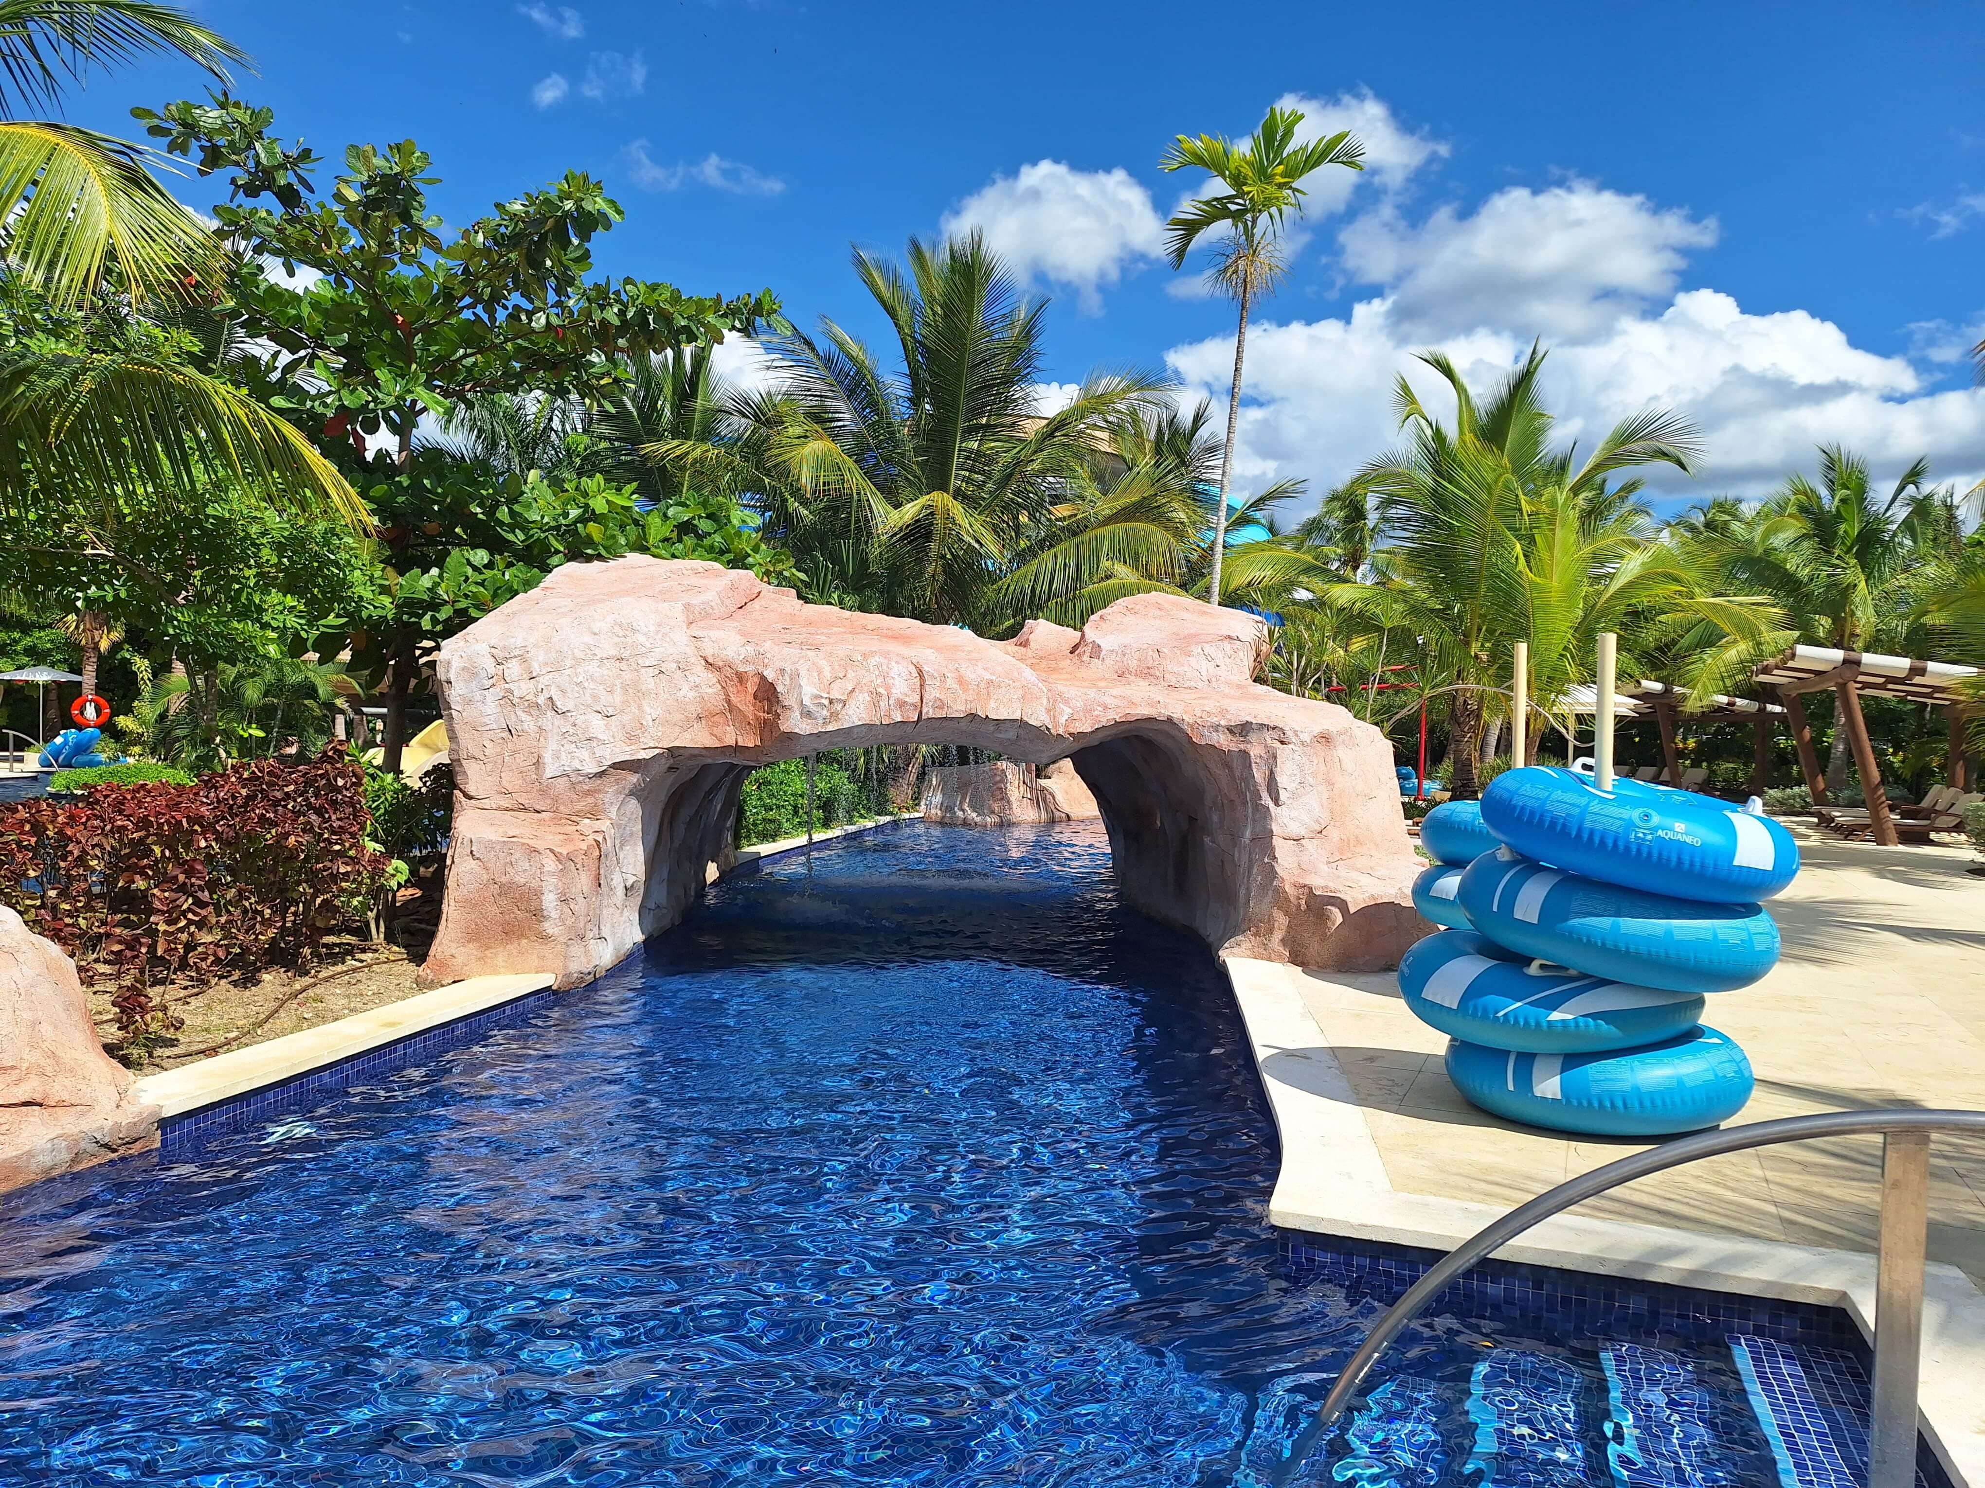
<path fill-rule="evenodd" d="M 1399 992 L 1419 1022 L 1467 1044 L 1521 1054 L 1602 1054 L 1661 1044 L 1695 1028 L 1701 996 L 1608 982 L 1509 952 L 1469 930 L 1429 934 L 1399 962 Z"/>

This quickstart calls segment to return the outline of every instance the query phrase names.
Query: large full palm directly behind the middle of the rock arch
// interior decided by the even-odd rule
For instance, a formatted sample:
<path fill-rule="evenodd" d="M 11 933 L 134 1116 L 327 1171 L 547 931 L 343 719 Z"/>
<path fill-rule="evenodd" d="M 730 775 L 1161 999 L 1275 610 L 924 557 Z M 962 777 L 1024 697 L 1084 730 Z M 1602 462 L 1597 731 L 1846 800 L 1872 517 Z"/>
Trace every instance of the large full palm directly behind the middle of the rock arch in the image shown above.
<path fill-rule="evenodd" d="M 1044 302 L 975 232 L 911 238 L 909 272 L 856 250 L 899 369 L 830 319 L 766 341 L 780 385 L 721 401 L 715 438 L 645 454 L 760 514 L 820 597 L 939 623 L 996 621 L 992 587 L 1082 488 L 1114 431 L 1163 399 L 1147 375 L 1092 377 L 1036 409 Z"/>

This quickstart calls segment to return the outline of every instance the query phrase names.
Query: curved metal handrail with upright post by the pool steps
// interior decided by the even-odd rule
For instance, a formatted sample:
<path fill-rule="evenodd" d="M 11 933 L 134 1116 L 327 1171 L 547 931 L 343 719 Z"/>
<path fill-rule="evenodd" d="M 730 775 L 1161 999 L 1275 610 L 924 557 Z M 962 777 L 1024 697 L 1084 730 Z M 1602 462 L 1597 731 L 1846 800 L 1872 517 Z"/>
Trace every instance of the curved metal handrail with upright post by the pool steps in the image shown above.
<path fill-rule="evenodd" d="M 1681 1137 L 1634 1157 L 1592 1169 L 1528 1204 L 1513 1208 L 1489 1228 L 1447 1252 L 1380 1317 L 1316 1417 L 1302 1428 L 1290 1468 L 1344 1415 L 1386 1345 L 1433 1302 L 1449 1282 L 1475 1262 L 1507 1246 L 1538 1220 L 1652 1173 L 1677 1169 L 1705 1157 L 1753 1147 L 1882 1133 L 1882 1236 L 1876 1250 L 1874 1307 L 1874 1421 L 1868 1432 L 1868 1488 L 1912 1488 L 1916 1482 L 1916 1385 L 1923 1353 L 1923 1250 L 1929 1222 L 1929 1133 L 1985 1131 L 1985 1111 L 1828 1111 L 1824 1115 L 1757 1121 L 1727 1131 Z"/>

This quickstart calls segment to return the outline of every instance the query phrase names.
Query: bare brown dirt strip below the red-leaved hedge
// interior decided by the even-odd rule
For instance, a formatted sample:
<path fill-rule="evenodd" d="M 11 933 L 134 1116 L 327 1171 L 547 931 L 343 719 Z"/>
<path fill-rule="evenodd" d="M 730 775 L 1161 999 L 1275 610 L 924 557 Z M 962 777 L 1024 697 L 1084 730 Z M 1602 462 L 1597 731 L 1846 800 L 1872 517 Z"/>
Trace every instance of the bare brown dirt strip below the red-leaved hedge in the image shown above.
<path fill-rule="evenodd" d="M 333 936 L 306 972 L 270 970 L 254 982 L 175 984 L 163 988 L 183 1026 L 151 1050 L 139 1073 L 173 1069 L 214 1054 L 244 1050 L 284 1034 L 349 1018 L 355 1012 L 415 996 L 421 960 L 441 913 L 439 875 L 423 873 L 401 891 L 397 934 L 403 946 Z M 115 988 L 91 988 L 89 1016 L 115 1055 Z"/>

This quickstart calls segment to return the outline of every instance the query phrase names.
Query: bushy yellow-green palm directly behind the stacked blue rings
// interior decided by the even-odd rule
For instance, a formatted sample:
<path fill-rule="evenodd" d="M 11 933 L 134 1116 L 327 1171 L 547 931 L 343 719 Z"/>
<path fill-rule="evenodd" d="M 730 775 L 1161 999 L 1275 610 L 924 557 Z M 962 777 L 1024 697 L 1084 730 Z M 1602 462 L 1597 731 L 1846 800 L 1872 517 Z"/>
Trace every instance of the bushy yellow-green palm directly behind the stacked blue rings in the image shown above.
<path fill-rule="evenodd" d="M 1407 446 L 1352 482 L 1376 500 L 1390 536 L 1370 559 L 1376 581 L 1328 585 L 1318 603 L 1413 637 L 1423 690 L 1449 694 L 1457 798 L 1477 794 L 1477 754 L 1517 641 L 1530 643 L 1530 690 L 1546 712 L 1590 681 L 1584 659 L 1600 631 L 1620 633 L 1628 673 L 1667 667 L 1691 690 L 1727 684 L 1775 643 L 1771 605 L 1717 597 L 1687 552 L 1655 542 L 1640 482 L 1612 482 L 1646 464 L 1689 470 L 1695 436 L 1685 421 L 1657 409 L 1634 415 L 1580 460 L 1576 446 L 1550 444 L 1540 349 L 1487 399 L 1449 359 L 1421 361 L 1453 391 L 1455 423 L 1435 419 L 1399 379 Z"/>

